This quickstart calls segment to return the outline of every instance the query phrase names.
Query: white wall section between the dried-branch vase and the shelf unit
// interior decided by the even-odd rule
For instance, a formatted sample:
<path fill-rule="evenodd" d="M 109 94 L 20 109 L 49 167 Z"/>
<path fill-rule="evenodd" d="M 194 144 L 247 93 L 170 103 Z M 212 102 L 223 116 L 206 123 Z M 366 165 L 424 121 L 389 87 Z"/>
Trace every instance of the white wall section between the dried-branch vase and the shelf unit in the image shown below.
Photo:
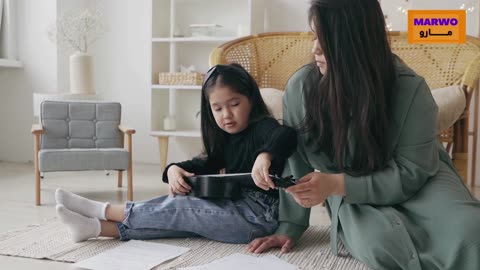
<path fill-rule="evenodd" d="M 105 99 L 122 103 L 122 122 L 136 129 L 134 160 L 158 163 L 150 131 L 150 1 L 108 0 L 110 31 L 95 47 L 96 86 Z"/>

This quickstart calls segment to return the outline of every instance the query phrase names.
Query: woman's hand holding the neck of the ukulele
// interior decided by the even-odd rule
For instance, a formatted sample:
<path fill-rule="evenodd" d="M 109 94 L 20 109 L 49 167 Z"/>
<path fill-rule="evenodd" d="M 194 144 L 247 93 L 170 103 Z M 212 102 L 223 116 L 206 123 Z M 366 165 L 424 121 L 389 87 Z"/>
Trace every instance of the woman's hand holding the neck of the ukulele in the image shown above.
<path fill-rule="evenodd" d="M 298 204 L 310 208 L 320 204 L 330 195 L 345 195 L 343 174 L 309 173 L 300 178 L 296 185 L 285 190 Z"/>

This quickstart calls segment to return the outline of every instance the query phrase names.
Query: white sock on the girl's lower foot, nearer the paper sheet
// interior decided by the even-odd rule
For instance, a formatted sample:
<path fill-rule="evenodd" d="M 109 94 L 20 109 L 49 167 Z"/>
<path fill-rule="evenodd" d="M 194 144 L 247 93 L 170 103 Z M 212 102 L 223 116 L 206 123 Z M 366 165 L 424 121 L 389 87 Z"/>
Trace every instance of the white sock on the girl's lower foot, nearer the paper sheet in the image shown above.
<path fill-rule="evenodd" d="M 73 242 L 82 242 L 100 235 L 101 226 L 98 218 L 89 218 L 68 210 L 63 204 L 57 204 L 57 215 L 67 225 Z"/>

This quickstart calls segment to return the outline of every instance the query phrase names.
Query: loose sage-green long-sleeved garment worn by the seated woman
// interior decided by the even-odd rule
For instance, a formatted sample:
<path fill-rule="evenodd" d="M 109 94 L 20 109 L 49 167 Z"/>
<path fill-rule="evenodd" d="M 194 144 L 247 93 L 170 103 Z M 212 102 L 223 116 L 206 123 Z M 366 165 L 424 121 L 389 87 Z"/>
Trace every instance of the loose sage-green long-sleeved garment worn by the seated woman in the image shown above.
<path fill-rule="evenodd" d="M 458 230 L 480 224 L 480 204 L 437 140 L 438 109 L 425 80 L 398 60 L 396 74 L 389 130 L 393 158 L 370 175 L 345 174 L 346 196 L 327 199 L 332 252 L 337 254 L 339 236 L 354 257 L 375 269 L 480 269 L 480 234 L 474 226 Z M 285 125 L 298 127 L 303 120 L 304 91 L 312 89 L 312 76 L 318 71 L 307 65 L 290 78 L 283 98 Z M 284 175 L 339 172 L 326 154 L 311 149 L 299 134 Z M 276 233 L 298 240 L 309 216 L 310 209 L 282 191 Z"/>

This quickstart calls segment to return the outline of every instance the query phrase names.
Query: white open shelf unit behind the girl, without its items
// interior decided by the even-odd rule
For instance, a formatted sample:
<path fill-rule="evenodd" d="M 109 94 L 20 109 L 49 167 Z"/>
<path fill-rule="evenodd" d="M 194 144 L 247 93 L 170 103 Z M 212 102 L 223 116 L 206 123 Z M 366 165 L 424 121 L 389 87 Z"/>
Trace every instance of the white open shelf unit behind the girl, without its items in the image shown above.
<path fill-rule="evenodd" d="M 160 85 L 159 72 L 178 72 L 194 65 L 206 73 L 213 48 L 264 31 L 264 0 L 151 0 L 150 135 L 159 138 L 161 165 L 169 137 L 199 138 L 200 85 Z M 218 24 L 214 36 L 192 37 L 190 24 Z M 163 119 L 174 117 L 176 130 L 164 130 Z"/>

